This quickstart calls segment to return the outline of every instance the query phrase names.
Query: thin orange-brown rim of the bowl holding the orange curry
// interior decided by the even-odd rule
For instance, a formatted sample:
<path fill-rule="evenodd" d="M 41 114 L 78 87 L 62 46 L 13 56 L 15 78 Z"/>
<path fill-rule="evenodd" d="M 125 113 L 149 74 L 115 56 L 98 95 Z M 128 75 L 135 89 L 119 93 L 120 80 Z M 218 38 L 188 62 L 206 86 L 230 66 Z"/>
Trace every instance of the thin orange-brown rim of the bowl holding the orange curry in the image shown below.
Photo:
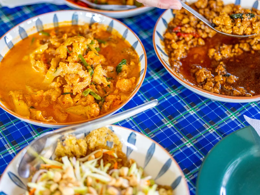
<path fill-rule="evenodd" d="M 15 26 L 12 27 L 10 30 L 8 30 L 0 39 L 2 39 L 7 33 L 9 33 L 11 30 L 13 30 L 14 28 L 16 28 L 17 26 L 21 25 L 21 24 L 24 23 L 24 22 L 27 22 L 27 21 L 29 21 L 29 20 L 32 20 L 33 18 L 42 16 L 42 15 L 45 15 L 45 14 L 52 14 L 52 13 L 56 13 L 56 12 L 68 12 L 68 11 L 69 11 L 69 12 L 90 12 L 90 13 L 93 13 L 93 14 L 99 14 L 99 13 L 96 13 L 96 12 L 93 12 L 93 11 L 87 11 L 87 10 L 58 10 L 58 11 L 47 12 L 47 13 L 44 13 L 44 14 L 40 14 L 40 15 L 37 15 L 37 16 L 33 16 L 33 17 L 31 17 L 31 18 L 29 18 L 29 19 L 23 21 L 23 22 L 20 22 L 19 24 L 15 25 Z M 134 36 L 135 36 L 135 37 L 137 38 L 137 40 L 140 42 L 140 44 L 141 44 L 141 46 L 142 46 L 142 49 L 143 49 L 143 51 L 144 51 L 145 68 L 144 68 L 143 76 L 142 76 L 142 78 L 139 78 L 139 79 L 141 79 L 139 85 L 135 88 L 135 90 L 133 91 L 133 94 L 131 94 L 125 102 L 123 102 L 122 104 L 120 104 L 119 107 L 116 107 L 116 108 L 110 110 L 109 112 L 104 113 L 104 114 L 101 114 L 101 115 L 99 115 L 99 116 L 97 116 L 97 117 L 95 117 L 95 118 L 86 119 L 86 120 L 82 120 L 82 121 L 76 121 L 76 122 L 61 122 L 61 123 L 43 122 L 43 121 L 38 121 L 38 120 L 34 120 L 34 119 L 28 119 L 28 118 L 26 118 L 26 117 L 24 117 L 24 116 L 21 116 L 21 115 L 16 114 L 16 113 L 13 112 L 12 110 L 9 110 L 9 109 L 6 108 L 5 106 L 3 106 L 4 104 L 3 104 L 3 105 L 0 104 L 0 107 L 1 107 L 3 110 L 5 110 L 7 113 L 9 113 L 9 114 L 15 116 L 16 118 L 18 118 L 18 119 L 20 119 L 20 120 L 22 119 L 22 120 L 25 121 L 25 122 L 28 122 L 28 123 L 34 122 L 34 123 L 37 123 L 37 125 L 39 125 L 39 126 L 41 126 L 41 124 L 44 124 L 44 125 L 52 125 L 53 128 L 55 128 L 55 126 L 60 127 L 60 126 L 62 126 L 62 125 L 64 125 L 64 126 L 76 125 L 76 124 L 80 124 L 80 123 L 92 121 L 92 120 L 95 120 L 95 119 L 98 119 L 98 118 L 101 118 L 101 117 L 109 116 L 110 114 L 113 114 L 113 113 L 116 112 L 118 109 L 121 109 L 123 106 L 125 106 L 126 103 L 128 103 L 128 102 L 134 97 L 134 95 L 139 91 L 139 89 L 140 89 L 142 83 L 144 82 L 145 75 L 146 75 L 146 71 L 147 71 L 147 55 L 146 55 L 146 51 L 145 51 L 144 45 L 143 45 L 143 43 L 141 42 L 140 38 L 139 38 L 139 37 L 134 33 L 134 31 L 133 31 L 131 28 L 129 28 L 126 24 L 124 24 L 123 22 L 121 22 L 121 21 L 119 21 L 119 20 L 117 20 L 117 19 L 115 19 L 115 18 L 106 16 L 106 15 L 103 15 L 103 14 L 100 14 L 100 15 L 105 16 L 105 17 L 107 17 L 107 18 L 110 18 L 110 19 L 112 19 L 112 20 L 115 20 L 115 21 L 119 22 L 120 24 L 124 25 L 128 30 L 130 30 L 130 31 L 134 34 Z M 3 56 L 3 57 L 4 57 L 4 56 Z M 139 56 L 139 57 L 140 57 L 140 56 Z"/>

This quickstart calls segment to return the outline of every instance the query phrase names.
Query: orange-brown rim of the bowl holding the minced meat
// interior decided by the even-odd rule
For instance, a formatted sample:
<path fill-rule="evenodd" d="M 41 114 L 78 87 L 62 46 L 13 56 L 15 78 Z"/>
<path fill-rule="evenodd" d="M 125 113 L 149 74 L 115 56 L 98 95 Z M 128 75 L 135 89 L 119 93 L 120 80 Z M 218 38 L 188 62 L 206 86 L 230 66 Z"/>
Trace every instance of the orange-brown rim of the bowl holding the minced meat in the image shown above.
<path fill-rule="evenodd" d="M 162 63 L 162 65 L 164 66 L 164 68 L 168 71 L 168 73 L 171 74 L 171 76 L 176 79 L 178 82 L 181 82 L 181 83 L 184 83 L 186 84 L 187 86 L 193 88 L 195 91 L 198 91 L 198 92 L 201 92 L 201 93 L 206 93 L 207 95 L 210 95 L 210 96 L 215 96 L 216 98 L 222 98 L 222 100 L 219 100 L 219 101 L 223 101 L 223 99 L 225 99 L 225 101 L 229 101 L 229 100 L 253 100 L 253 101 L 257 101 L 257 99 L 260 98 L 260 95 L 256 95 L 256 96 L 252 96 L 252 97 L 236 97 L 236 96 L 229 96 L 229 95 L 221 95 L 221 94 L 216 94 L 216 93 L 212 93 L 212 92 L 208 92 L 206 90 L 203 90 L 203 89 L 200 89 L 194 85 L 192 85 L 190 82 L 186 81 L 186 80 L 183 80 L 179 75 L 177 75 L 171 68 L 169 68 L 166 63 L 162 60 L 158 50 L 157 50 L 157 47 L 156 47 L 156 44 L 155 44 L 155 32 L 156 32 L 156 27 L 157 27 L 157 24 L 158 22 L 161 20 L 162 16 L 165 14 L 166 11 L 168 11 L 169 9 L 165 10 L 161 15 L 160 17 L 158 18 L 157 22 L 155 23 L 155 26 L 154 26 L 154 29 L 153 29 L 153 48 L 154 48 L 154 51 L 159 59 L 159 61 Z M 164 49 L 164 48 L 162 48 Z M 183 85 L 183 84 L 182 84 Z M 185 88 L 187 88 L 186 86 L 184 86 Z M 197 93 L 197 92 L 196 92 Z M 198 93 L 197 93 L 198 94 Z M 203 95 L 202 95 L 203 96 Z M 204 96 L 205 97 L 205 96 Z M 210 98 L 211 99 L 211 98 Z"/>

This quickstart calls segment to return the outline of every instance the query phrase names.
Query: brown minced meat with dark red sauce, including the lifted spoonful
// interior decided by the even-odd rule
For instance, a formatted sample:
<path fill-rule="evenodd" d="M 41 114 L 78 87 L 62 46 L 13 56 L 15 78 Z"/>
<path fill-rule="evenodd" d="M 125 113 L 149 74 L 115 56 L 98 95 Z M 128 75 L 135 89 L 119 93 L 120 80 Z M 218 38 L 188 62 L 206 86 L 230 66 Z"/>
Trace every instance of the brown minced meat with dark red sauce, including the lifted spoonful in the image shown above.
<path fill-rule="evenodd" d="M 216 29 L 236 35 L 258 34 L 259 10 L 199 0 L 190 5 Z M 164 44 L 173 70 L 206 91 L 229 96 L 260 94 L 260 36 L 234 38 L 217 34 L 185 9 L 173 10 Z"/>

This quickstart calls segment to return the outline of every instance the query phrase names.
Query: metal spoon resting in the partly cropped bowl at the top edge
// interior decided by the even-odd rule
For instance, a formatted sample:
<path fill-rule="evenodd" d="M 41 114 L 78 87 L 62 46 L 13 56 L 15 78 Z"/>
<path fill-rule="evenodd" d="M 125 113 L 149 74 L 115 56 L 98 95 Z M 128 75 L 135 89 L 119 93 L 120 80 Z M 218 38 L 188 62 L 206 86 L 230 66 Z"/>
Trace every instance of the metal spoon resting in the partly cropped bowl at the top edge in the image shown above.
<path fill-rule="evenodd" d="M 137 8 L 137 6 L 135 5 L 101 5 L 101 4 L 92 3 L 88 0 L 80 0 L 80 1 L 86 3 L 90 8 L 102 9 L 102 10 L 122 11 L 122 10 Z"/>

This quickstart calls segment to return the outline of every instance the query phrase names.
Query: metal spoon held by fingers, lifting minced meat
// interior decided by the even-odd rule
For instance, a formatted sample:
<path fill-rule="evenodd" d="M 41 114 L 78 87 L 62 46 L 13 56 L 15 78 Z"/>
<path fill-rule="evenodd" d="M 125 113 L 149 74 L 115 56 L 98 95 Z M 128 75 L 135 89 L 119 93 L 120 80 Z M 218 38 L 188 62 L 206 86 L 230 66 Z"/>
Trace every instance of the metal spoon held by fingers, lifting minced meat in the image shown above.
<path fill-rule="evenodd" d="M 212 28 L 213 30 L 217 31 L 218 33 L 221 33 L 223 35 L 227 35 L 227 36 L 231 36 L 231 37 L 250 37 L 250 36 L 254 36 L 256 34 L 252 34 L 252 35 L 232 35 L 232 34 L 228 34 L 228 33 L 223 33 L 217 29 L 215 29 L 215 24 L 211 23 L 210 21 L 208 21 L 204 16 L 202 16 L 201 14 L 199 14 L 197 11 L 195 11 L 194 9 L 192 9 L 189 5 L 185 4 L 184 2 L 180 1 L 181 5 L 184 9 L 186 9 L 187 11 L 191 12 L 191 14 L 193 14 L 194 16 L 196 16 L 197 18 L 199 18 L 202 22 L 204 22 L 205 24 L 207 24 L 210 28 Z"/>

